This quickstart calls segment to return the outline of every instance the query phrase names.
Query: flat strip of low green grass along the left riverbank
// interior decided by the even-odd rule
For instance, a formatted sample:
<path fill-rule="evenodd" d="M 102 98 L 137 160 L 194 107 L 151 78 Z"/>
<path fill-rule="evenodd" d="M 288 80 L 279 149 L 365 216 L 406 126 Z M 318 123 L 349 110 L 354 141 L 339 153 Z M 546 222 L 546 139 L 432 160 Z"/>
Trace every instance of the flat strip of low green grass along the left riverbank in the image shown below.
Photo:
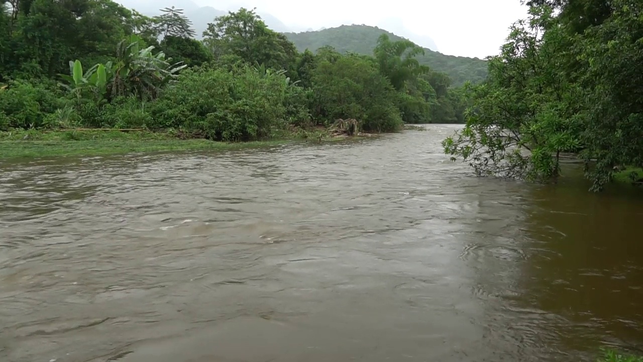
<path fill-rule="evenodd" d="M 292 139 L 258 142 L 213 142 L 180 139 L 176 133 L 149 131 L 10 131 L 0 132 L 0 158 L 49 156 L 97 156 L 131 152 L 229 150 L 260 148 L 292 142 Z"/>

